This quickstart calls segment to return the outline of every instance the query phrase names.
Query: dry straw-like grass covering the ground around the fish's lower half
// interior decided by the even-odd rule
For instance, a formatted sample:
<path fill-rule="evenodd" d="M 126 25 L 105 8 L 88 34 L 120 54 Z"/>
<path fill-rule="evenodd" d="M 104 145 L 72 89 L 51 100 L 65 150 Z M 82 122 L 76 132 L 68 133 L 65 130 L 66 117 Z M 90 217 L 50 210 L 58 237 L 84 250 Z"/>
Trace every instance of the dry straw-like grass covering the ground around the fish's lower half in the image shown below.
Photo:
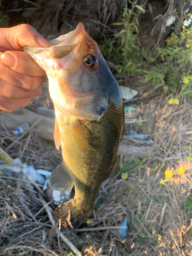
<path fill-rule="evenodd" d="M 46 92 L 40 97 L 45 95 Z M 46 104 L 44 101 L 46 97 L 40 99 L 39 106 L 42 102 Z M 124 165 L 121 173 L 127 172 L 128 178 L 122 179 L 119 175 L 101 186 L 89 225 L 85 221 L 77 222 L 74 230 L 61 227 L 61 231 L 82 255 L 99 255 L 100 247 L 103 248 L 102 255 L 192 255 L 192 166 L 186 164 L 192 140 L 191 105 L 184 97 L 179 105 L 169 105 L 161 95 L 138 101 L 133 106 L 135 111 L 126 114 L 126 120 L 134 120 L 134 117 L 141 122 L 143 119 L 147 121 L 142 125 L 126 124 L 125 133 L 132 129 L 149 134 L 148 138 L 155 141 L 153 152 L 142 161 L 122 156 L 122 162 L 128 167 Z M 0 127 L 0 136 L 4 150 L 16 140 L 5 126 Z M 53 170 L 60 158 L 53 143 L 42 141 L 32 132 L 7 153 L 12 158 L 23 153 L 23 162 L 48 170 Z M 160 184 L 165 179 L 166 169 L 174 169 L 176 173 L 180 165 L 186 169 L 184 174 L 174 175 L 170 179 L 172 182 L 166 182 L 167 187 Z M 39 190 L 23 180 L 20 174 L 6 174 L 7 178 L 3 175 L 0 176 L 0 255 L 69 253 L 68 245 L 60 240 L 52 227 L 46 209 L 34 217 L 44 206 Z M 53 212 L 54 205 L 50 206 Z M 125 218 L 129 229 L 123 240 L 113 227 L 119 226 Z M 90 230 L 76 230 L 82 228 Z"/>

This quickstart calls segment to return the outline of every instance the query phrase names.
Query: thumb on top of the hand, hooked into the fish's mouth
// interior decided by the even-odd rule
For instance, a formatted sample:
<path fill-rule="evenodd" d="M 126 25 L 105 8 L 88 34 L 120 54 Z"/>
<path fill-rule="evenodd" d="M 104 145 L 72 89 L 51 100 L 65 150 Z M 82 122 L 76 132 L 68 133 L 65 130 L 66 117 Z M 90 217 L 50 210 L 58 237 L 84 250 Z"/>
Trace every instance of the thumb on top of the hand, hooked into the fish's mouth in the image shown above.
<path fill-rule="evenodd" d="M 50 47 L 52 44 L 27 24 L 0 29 L 0 51 L 23 51 L 24 46 Z"/>

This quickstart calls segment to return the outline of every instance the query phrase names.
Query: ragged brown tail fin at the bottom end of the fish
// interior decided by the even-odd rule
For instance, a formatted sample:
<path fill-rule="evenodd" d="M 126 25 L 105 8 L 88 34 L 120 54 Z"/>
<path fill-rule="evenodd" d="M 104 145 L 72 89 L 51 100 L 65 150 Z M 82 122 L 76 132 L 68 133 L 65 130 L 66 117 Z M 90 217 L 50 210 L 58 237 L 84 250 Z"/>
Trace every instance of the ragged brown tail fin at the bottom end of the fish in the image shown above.
<path fill-rule="evenodd" d="M 72 199 L 65 204 L 58 206 L 55 209 L 54 217 L 59 220 L 59 225 L 67 227 L 70 225 L 73 228 L 72 223 L 77 220 L 88 219 L 93 212 L 92 210 L 81 208 L 76 204 L 76 200 Z"/>

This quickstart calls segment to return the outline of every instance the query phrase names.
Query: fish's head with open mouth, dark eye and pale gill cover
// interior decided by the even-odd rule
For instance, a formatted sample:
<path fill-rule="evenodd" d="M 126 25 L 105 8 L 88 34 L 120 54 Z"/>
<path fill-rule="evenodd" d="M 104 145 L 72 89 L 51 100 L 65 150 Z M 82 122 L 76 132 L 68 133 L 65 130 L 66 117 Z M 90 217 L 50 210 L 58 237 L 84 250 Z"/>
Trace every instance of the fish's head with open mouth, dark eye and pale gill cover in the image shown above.
<path fill-rule="evenodd" d="M 50 42 L 49 48 L 26 46 L 24 51 L 46 71 L 55 108 L 81 120 L 99 121 L 108 110 L 110 90 L 118 84 L 97 43 L 82 23 Z"/>

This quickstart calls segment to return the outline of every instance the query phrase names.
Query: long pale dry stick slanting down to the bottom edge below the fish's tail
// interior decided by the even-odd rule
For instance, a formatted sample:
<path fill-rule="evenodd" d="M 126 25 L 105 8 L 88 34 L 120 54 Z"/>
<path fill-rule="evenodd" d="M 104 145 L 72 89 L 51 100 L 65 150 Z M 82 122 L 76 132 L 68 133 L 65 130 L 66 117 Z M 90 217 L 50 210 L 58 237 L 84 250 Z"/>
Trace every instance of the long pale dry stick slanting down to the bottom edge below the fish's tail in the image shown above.
<path fill-rule="evenodd" d="M 42 198 L 42 196 L 40 194 L 38 194 L 39 198 L 42 201 L 42 204 L 45 206 L 47 203 L 44 200 L 44 198 Z M 46 206 L 45 207 L 46 211 L 47 211 L 47 215 L 50 219 L 50 222 L 52 224 L 52 226 L 55 227 L 55 220 L 53 218 L 53 215 L 51 213 L 51 208 L 50 206 Z M 69 248 L 77 255 L 77 256 L 82 256 L 81 252 L 71 243 L 71 241 L 69 241 L 69 239 L 66 238 L 66 236 L 64 236 L 64 234 L 61 233 L 61 231 L 58 229 L 58 227 L 55 227 L 56 233 L 59 234 L 59 237 L 62 239 L 63 242 L 65 242 Z"/>

